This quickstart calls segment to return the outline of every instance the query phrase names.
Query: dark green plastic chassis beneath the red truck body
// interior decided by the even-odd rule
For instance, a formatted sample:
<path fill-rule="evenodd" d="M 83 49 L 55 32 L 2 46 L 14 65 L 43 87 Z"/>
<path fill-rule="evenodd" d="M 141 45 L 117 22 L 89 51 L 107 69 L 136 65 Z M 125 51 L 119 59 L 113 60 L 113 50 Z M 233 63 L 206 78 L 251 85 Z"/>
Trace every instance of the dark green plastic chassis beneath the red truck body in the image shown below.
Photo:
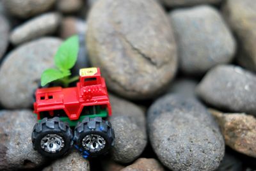
<path fill-rule="evenodd" d="M 93 117 L 107 117 L 107 116 L 108 116 L 107 110 L 106 109 L 102 109 L 102 110 L 99 110 L 99 112 L 97 114 L 80 115 L 79 119 L 77 119 L 77 120 L 72 120 L 71 121 L 68 117 L 60 117 L 60 120 L 63 121 L 63 122 L 68 123 L 69 126 L 76 126 L 77 122 L 82 122 L 85 117 L 93 118 Z M 40 120 L 38 120 L 39 123 L 41 121 L 42 121 L 42 118 Z"/>

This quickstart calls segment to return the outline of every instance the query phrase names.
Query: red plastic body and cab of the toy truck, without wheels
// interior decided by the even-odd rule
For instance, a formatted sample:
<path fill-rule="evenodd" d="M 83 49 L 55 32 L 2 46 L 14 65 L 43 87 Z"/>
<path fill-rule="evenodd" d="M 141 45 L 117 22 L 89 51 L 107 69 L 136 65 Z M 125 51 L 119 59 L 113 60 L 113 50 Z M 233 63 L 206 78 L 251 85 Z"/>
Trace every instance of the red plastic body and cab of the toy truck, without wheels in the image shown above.
<path fill-rule="evenodd" d="M 79 75 L 76 87 L 37 89 L 34 113 L 37 114 L 38 120 L 43 119 L 45 115 L 58 116 L 64 121 L 80 121 L 82 115 L 84 117 L 111 115 L 106 83 L 100 76 L 99 68 L 81 69 Z"/>

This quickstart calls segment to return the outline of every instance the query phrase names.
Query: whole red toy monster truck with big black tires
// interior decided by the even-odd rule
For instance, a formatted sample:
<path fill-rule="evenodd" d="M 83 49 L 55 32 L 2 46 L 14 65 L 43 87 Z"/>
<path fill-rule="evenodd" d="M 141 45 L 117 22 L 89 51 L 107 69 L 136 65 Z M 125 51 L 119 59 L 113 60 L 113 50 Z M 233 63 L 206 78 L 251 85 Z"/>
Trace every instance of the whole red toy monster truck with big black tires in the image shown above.
<path fill-rule="evenodd" d="M 111 115 L 111 105 L 99 68 L 81 69 L 79 75 L 76 87 L 36 90 L 34 113 L 39 122 L 33 128 L 32 142 L 44 156 L 62 156 L 73 140 L 85 156 L 104 154 L 114 143 L 111 124 L 102 119 Z"/>

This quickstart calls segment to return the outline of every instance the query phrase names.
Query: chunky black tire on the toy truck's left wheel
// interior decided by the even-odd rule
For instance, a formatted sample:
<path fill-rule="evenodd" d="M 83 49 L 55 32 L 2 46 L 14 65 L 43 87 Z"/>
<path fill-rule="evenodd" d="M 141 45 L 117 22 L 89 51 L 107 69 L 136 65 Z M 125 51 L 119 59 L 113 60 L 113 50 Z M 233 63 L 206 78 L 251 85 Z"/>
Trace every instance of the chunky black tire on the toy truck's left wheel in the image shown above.
<path fill-rule="evenodd" d="M 64 145 L 63 147 L 61 146 L 60 149 L 57 149 L 55 152 L 47 151 L 47 149 L 51 148 L 52 146 L 52 144 L 49 144 L 49 142 L 48 144 L 50 147 L 47 148 L 47 145 L 44 145 L 45 150 L 41 146 L 41 142 L 47 143 L 47 138 L 51 138 L 51 136 L 56 138 L 54 144 Z M 31 135 L 33 148 L 43 156 L 49 158 L 59 158 L 60 156 L 63 156 L 73 144 L 72 138 L 72 130 L 68 124 L 60 121 L 59 117 L 54 117 L 52 119 L 47 119 L 45 117 L 40 123 L 35 124 Z"/>

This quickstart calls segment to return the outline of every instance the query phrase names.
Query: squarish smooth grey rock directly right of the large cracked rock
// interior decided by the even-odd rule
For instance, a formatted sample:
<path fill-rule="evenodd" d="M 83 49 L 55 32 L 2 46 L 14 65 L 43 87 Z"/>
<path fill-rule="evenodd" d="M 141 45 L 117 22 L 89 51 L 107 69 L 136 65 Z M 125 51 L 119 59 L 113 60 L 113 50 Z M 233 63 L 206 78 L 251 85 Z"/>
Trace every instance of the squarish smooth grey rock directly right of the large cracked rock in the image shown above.
<path fill-rule="evenodd" d="M 170 13 L 184 73 L 202 75 L 217 64 L 230 63 L 236 41 L 220 13 L 211 6 L 196 6 Z"/>

